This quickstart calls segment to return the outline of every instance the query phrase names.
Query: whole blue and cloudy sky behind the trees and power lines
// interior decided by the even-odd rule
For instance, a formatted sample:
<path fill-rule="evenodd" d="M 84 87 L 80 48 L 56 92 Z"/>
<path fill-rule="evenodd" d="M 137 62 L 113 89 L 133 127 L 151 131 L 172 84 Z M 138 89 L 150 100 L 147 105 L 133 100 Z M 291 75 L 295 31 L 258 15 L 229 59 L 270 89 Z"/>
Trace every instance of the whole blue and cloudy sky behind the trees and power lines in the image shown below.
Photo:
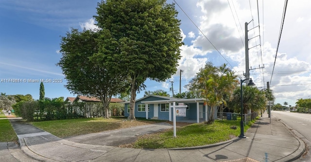
<path fill-rule="evenodd" d="M 76 96 L 64 87 L 67 80 L 55 65 L 62 57 L 60 36 L 71 28 L 95 28 L 98 2 L 0 0 L 0 92 L 31 94 L 38 99 L 39 82 L 45 81 L 45 97 Z M 166 82 L 146 80 L 146 90 L 161 89 L 172 95 L 173 81 L 174 93 L 178 93 L 183 70 L 181 92 L 187 91 L 184 86 L 207 62 L 214 66 L 225 63 L 244 79 L 248 23 L 250 78 L 256 86 L 266 89 L 269 82 L 275 103 L 281 105 L 294 106 L 297 99 L 311 98 L 310 0 L 289 0 L 279 43 L 285 0 L 167 2 L 176 3 L 185 44 L 180 47 L 177 72 Z M 137 99 L 143 94 L 144 90 Z"/>

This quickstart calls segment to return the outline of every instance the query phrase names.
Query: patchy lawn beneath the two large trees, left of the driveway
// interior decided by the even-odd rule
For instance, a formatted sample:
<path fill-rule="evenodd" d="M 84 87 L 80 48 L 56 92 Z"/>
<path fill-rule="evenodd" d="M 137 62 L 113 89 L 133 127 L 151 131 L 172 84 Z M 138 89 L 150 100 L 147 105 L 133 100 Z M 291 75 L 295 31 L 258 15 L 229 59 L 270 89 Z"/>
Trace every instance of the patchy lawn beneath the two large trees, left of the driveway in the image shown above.
<path fill-rule="evenodd" d="M 131 121 L 127 120 L 127 118 L 125 117 L 113 117 L 110 119 L 82 118 L 82 119 L 54 120 L 54 121 L 32 122 L 31 124 L 45 131 L 48 131 L 55 136 L 64 138 L 69 136 L 96 133 L 105 130 L 147 125 L 155 122 L 163 122 L 163 121 L 155 121 L 155 120 L 147 121 L 140 118 L 137 118 L 136 121 Z"/>

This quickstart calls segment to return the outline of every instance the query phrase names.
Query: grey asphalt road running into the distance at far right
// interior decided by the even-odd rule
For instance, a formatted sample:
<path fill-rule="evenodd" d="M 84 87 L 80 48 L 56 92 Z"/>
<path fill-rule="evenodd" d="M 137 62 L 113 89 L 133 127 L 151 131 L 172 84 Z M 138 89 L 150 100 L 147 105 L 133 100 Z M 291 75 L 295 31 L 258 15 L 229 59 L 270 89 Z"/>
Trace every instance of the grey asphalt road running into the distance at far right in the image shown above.
<path fill-rule="evenodd" d="M 311 148 L 311 114 L 289 111 L 271 111 L 271 114 L 292 127 L 296 131 L 294 133 Z M 306 158 L 295 162 L 311 162 L 311 150 L 309 150 L 309 155 Z"/>

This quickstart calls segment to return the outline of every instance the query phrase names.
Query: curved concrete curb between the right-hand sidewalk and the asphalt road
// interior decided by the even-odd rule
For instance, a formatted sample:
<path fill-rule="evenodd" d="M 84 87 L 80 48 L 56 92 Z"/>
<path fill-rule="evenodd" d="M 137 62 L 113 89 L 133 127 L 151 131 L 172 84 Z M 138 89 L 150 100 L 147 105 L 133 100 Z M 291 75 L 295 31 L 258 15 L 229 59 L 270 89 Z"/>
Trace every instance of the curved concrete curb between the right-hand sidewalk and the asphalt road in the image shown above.
<path fill-rule="evenodd" d="M 273 115 L 274 116 L 274 115 Z M 306 145 L 304 144 L 304 142 L 292 131 L 294 130 L 292 127 L 288 126 L 287 124 L 285 124 L 282 120 L 278 119 L 276 116 L 274 116 L 276 118 L 277 121 L 281 122 L 284 127 L 293 135 L 293 137 L 295 139 L 297 139 L 297 141 L 299 142 L 299 147 L 296 149 L 295 152 L 293 152 L 292 154 L 283 157 L 275 162 L 293 162 L 294 160 L 297 160 L 301 157 L 301 155 L 305 152 L 306 149 Z"/>

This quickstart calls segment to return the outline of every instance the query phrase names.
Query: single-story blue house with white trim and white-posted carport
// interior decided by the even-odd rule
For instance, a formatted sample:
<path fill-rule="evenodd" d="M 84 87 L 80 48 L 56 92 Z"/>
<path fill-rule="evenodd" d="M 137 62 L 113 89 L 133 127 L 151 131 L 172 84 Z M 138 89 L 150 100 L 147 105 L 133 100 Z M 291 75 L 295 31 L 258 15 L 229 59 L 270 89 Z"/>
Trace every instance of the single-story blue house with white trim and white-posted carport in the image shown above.
<path fill-rule="evenodd" d="M 186 117 L 176 116 L 176 121 L 183 122 L 196 122 L 200 123 L 205 119 L 207 121 L 208 107 L 204 104 L 206 99 L 204 98 L 171 98 L 166 96 L 148 95 L 143 98 L 137 99 L 135 102 L 135 117 L 141 117 L 146 119 L 158 119 L 173 121 L 173 103 L 184 103 L 188 105 L 186 108 Z M 124 103 L 124 116 L 129 116 L 130 102 Z M 148 109 L 146 111 L 146 108 Z M 210 111 L 210 110 L 209 110 Z"/>

